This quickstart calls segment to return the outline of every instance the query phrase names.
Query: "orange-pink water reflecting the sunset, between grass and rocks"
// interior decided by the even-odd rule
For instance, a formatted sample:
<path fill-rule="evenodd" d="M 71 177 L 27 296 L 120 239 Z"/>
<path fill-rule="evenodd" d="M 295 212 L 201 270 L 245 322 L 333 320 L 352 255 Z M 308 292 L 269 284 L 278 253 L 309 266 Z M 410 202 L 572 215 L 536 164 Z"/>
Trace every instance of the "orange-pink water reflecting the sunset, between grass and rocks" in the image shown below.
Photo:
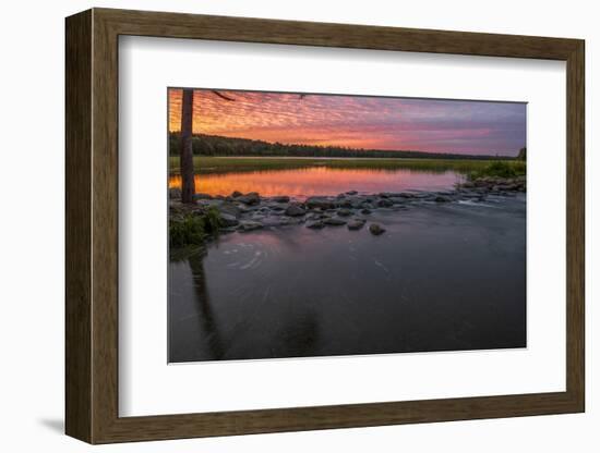
<path fill-rule="evenodd" d="M 425 172 L 415 170 L 331 169 L 325 167 L 254 171 L 226 174 L 196 174 L 199 193 L 229 195 L 233 191 L 257 192 L 263 196 L 289 195 L 304 198 L 311 195 L 337 195 L 347 191 L 367 193 L 406 189 L 441 191 L 453 188 L 463 176 L 453 171 Z M 169 177 L 170 187 L 181 186 L 181 176 Z"/>

